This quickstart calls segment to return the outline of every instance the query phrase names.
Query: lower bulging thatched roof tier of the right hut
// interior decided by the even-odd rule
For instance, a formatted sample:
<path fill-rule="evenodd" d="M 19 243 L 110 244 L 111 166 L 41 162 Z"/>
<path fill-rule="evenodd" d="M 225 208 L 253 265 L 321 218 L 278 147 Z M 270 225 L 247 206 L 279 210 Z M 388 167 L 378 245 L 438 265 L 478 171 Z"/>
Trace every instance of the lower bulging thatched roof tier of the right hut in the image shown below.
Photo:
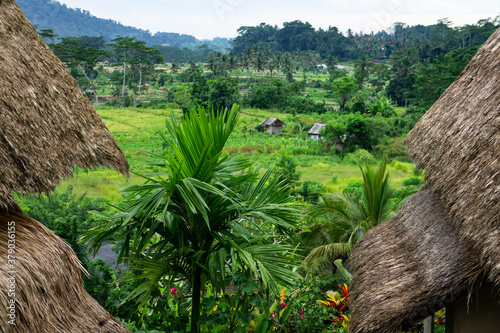
<path fill-rule="evenodd" d="M 416 324 L 481 275 L 444 203 L 425 187 L 399 214 L 370 230 L 349 258 L 351 332 L 395 332 Z"/>

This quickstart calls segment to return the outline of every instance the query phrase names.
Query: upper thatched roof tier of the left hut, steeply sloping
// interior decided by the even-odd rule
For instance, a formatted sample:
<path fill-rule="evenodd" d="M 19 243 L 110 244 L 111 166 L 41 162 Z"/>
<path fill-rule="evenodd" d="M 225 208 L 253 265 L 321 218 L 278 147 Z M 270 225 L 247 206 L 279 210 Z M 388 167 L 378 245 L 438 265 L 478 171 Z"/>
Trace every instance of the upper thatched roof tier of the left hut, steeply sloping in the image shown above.
<path fill-rule="evenodd" d="M 13 0 L 0 2 L 0 209 L 48 193 L 75 165 L 128 174 L 85 94 Z"/>

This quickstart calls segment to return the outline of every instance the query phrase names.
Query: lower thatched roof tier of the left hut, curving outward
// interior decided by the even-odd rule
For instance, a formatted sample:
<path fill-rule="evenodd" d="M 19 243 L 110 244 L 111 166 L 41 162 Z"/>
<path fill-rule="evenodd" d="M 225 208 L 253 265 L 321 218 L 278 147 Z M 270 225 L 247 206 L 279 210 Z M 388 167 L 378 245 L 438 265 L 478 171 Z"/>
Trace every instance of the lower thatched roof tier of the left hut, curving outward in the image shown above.
<path fill-rule="evenodd" d="M 80 262 L 66 242 L 29 217 L 0 212 L 0 257 L 5 259 L 8 230 L 15 230 L 15 263 L 13 269 L 0 265 L 0 290 L 10 289 L 8 278 L 14 275 L 15 296 L 0 292 L 5 305 L 1 332 L 130 332 L 87 294 Z M 11 299 L 15 300 L 14 326 L 5 312 Z"/>

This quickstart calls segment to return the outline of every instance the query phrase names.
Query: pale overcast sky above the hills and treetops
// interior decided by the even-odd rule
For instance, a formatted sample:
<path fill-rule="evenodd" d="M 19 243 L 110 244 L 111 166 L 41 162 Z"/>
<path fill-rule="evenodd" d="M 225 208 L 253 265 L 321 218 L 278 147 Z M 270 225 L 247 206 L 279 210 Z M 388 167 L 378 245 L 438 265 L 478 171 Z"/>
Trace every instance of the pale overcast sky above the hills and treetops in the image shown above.
<path fill-rule="evenodd" d="M 473 24 L 500 14 L 498 0 L 57 0 L 152 33 L 177 32 L 198 39 L 236 37 L 241 26 L 281 26 L 301 20 L 345 32 L 388 29 L 394 22 Z"/>

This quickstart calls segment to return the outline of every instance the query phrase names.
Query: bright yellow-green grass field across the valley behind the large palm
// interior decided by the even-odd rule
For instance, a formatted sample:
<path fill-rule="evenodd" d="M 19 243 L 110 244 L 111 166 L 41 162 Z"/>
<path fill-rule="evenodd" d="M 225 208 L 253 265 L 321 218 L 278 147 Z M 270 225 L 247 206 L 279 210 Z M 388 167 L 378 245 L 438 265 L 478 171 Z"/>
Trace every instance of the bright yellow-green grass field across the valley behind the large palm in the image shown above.
<path fill-rule="evenodd" d="M 171 113 L 180 117 L 180 110 L 99 108 L 97 111 L 125 153 L 132 172 L 143 174 L 160 171 L 159 167 L 148 164 L 153 161 L 148 153 L 162 151 L 162 141 L 157 133 L 165 130 L 165 121 Z M 300 181 L 318 181 L 330 191 L 342 190 L 347 184 L 362 180 L 357 165 L 345 164 L 339 155 L 317 155 L 317 145 L 322 143 L 308 140 L 304 133 L 292 134 L 292 129 L 288 127 L 285 127 L 282 135 L 257 132 L 255 127 L 269 116 L 277 116 L 285 123 L 298 119 L 270 111 L 242 110 L 240 124 L 229 139 L 226 151 L 250 156 L 262 168 L 272 166 L 282 153 L 292 155 L 302 173 Z M 312 124 L 325 121 L 323 117 L 304 115 L 300 119 Z M 400 188 L 405 179 L 414 177 L 413 169 L 414 166 L 409 163 L 392 163 L 389 166 L 392 186 Z M 58 189 L 65 189 L 71 184 L 76 194 L 86 192 L 117 202 L 121 197 L 119 188 L 142 182 L 143 179 L 137 175 L 125 179 L 111 170 L 99 169 L 88 173 L 80 170 L 73 177 L 64 179 Z"/>

